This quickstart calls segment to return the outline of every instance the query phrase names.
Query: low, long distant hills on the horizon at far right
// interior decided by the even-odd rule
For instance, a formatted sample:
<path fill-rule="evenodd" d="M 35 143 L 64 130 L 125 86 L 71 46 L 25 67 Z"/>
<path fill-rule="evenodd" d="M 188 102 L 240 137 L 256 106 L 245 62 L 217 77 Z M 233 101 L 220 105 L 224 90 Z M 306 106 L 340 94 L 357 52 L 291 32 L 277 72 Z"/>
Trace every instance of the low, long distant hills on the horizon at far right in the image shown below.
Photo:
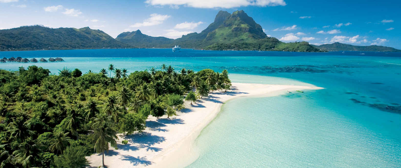
<path fill-rule="evenodd" d="M 370 46 L 358 46 L 358 45 L 350 45 L 343 44 L 339 42 L 335 42 L 332 44 L 322 44 L 322 45 L 313 45 L 318 49 L 324 49 L 328 51 L 375 51 L 375 52 L 401 52 L 400 49 L 395 49 L 393 47 L 385 47 L 380 45 L 370 45 Z"/>

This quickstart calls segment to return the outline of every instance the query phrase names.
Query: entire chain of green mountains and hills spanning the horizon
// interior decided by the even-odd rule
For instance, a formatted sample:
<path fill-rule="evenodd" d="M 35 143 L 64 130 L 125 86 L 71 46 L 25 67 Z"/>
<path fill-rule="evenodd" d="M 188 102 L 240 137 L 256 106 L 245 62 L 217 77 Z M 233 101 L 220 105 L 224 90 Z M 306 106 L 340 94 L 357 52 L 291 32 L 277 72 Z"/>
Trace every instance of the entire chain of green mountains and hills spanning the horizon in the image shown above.
<path fill-rule="evenodd" d="M 378 45 L 356 46 L 343 43 L 312 45 L 308 42 L 280 42 L 268 37 L 262 27 L 243 10 L 230 14 L 219 11 L 215 21 L 200 33 L 190 33 L 178 39 L 152 37 L 140 30 L 123 32 L 112 38 L 101 30 L 85 28 L 47 28 L 21 26 L 0 30 L 0 51 L 104 49 L 104 48 L 182 48 L 207 50 L 261 50 L 261 51 L 385 51 L 400 52 L 393 47 Z"/>

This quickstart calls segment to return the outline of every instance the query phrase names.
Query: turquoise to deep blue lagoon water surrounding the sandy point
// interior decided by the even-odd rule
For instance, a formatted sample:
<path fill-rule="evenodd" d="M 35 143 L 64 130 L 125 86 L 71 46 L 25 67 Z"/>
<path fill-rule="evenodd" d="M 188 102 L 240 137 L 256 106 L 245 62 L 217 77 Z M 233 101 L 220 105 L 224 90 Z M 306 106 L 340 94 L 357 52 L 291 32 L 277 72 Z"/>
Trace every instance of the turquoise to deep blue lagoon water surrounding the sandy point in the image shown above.
<path fill-rule="evenodd" d="M 62 57 L 50 69 L 128 71 L 160 67 L 228 69 L 233 82 L 326 89 L 225 103 L 195 141 L 188 168 L 401 167 L 401 53 L 92 49 L 8 51 L 0 57 Z M 33 63 L 0 63 L 18 70 Z"/>

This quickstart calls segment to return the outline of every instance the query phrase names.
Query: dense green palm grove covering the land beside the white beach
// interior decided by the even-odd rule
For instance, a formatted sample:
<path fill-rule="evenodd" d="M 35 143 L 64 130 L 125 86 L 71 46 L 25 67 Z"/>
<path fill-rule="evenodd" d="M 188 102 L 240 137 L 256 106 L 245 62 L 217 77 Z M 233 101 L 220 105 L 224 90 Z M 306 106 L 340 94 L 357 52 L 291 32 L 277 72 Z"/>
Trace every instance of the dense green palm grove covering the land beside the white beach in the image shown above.
<path fill-rule="evenodd" d="M 144 130 L 148 115 L 172 117 L 184 99 L 231 86 L 227 70 L 107 69 L 0 69 L 0 168 L 83 168 L 85 156 L 117 147 L 117 133 Z"/>

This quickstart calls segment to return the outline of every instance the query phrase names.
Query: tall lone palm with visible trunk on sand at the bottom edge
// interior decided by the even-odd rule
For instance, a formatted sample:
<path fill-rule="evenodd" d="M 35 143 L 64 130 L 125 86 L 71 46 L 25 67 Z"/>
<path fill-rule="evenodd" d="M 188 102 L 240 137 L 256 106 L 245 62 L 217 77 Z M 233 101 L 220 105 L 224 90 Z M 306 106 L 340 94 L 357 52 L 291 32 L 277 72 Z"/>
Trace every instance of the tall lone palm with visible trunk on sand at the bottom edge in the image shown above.
<path fill-rule="evenodd" d="M 93 136 L 96 139 L 95 150 L 97 153 L 102 153 L 102 166 L 104 166 L 104 151 L 109 152 L 109 143 L 110 146 L 117 148 L 117 143 L 115 140 L 118 140 L 118 137 L 115 136 L 117 133 L 115 130 L 111 128 L 112 120 L 111 116 L 107 117 L 104 113 L 99 113 L 98 117 L 93 120 L 95 123 L 93 124 L 94 134 Z"/>

